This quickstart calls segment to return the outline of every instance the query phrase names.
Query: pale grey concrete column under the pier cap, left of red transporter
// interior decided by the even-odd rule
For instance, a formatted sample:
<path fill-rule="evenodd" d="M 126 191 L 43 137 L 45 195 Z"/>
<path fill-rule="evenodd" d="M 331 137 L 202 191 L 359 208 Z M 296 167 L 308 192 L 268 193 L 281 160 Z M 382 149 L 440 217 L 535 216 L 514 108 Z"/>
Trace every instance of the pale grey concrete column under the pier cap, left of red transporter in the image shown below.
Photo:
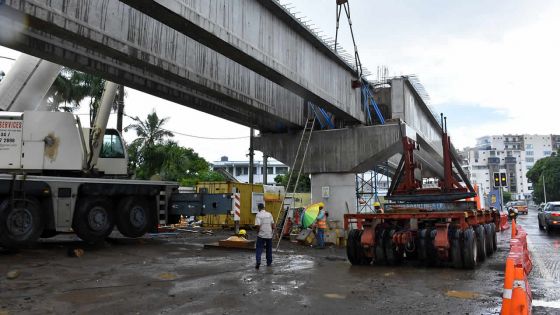
<path fill-rule="evenodd" d="M 344 214 L 356 213 L 356 174 L 312 174 L 311 201 L 323 202 L 329 212 L 329 220 L 339 220 L 342 227 Z"/>

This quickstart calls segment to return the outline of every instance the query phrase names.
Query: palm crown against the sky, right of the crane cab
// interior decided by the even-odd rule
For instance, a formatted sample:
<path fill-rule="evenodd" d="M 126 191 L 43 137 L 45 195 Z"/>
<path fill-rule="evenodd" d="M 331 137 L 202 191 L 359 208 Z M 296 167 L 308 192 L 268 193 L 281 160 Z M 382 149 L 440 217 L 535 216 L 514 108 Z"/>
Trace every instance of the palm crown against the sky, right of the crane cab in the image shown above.
<path fill-rule="evenodd" d="M 124 131 L 134 129 L 138 138 L 134 142 L 139 142 L 141 147 L 151 147 L 161 143 L 165 137 L 173 137 L 171 131 L 163 129 L 163 125 L 169 120 L 168 117 L 159 119 L 155 111 L 142 121 L 138 116 L 132 118 L 135 123 L 124 128 Z"/>

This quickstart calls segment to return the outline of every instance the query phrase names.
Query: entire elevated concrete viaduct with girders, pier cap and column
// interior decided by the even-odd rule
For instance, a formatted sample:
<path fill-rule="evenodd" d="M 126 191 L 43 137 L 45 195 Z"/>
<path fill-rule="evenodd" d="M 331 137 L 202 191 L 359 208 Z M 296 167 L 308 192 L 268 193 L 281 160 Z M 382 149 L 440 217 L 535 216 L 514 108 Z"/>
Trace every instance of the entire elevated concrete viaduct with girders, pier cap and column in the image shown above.
<path fill-rule="evenodd" d="M 438 122 L 410 80 L 376 90 L 389 123 L 366 126 L 353 66 L 276 1 L 0 0 L 0 25 L 0 45 L 258 129 L 255 148 L 287 164 L 307 103 L 321 106 L 338 129 L 314 132 L 305 171 L 340 213 L 355 172 L 398 162 L 401 130 L 442 174 Z"/>

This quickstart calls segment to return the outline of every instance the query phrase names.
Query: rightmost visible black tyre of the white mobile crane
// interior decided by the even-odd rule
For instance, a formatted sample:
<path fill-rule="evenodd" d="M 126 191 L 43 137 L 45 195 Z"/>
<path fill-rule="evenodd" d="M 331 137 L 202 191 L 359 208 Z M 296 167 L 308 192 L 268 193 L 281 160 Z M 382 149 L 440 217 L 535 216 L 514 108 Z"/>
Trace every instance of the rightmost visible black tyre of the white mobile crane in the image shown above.
<path fill-rule="evenodd" d="M 140 237 L 152 226 L 153 216 L 154 211 L 144 197 L 127 196 L 116 209 L 117 228 L 126 237 Z"/>

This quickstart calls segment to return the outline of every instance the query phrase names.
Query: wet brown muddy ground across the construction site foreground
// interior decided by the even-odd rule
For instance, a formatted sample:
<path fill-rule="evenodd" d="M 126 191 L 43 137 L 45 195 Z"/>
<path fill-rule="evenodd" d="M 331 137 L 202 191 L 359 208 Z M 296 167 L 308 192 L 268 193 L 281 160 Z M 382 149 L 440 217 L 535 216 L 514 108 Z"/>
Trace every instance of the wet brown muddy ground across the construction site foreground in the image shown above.
<path fill-rule="evenodd" d="M 351 266 L 344 249 L 312 249 L 289 242 L 274 254 L 272 267 L 255 270 L 251 251 L 203 248 L 228 233 L 136 240 L 113 235 L 96 247 L 64 235 L 17 253 L 4 251 L 0 314 L 498 314 L 500 310 L 509 231 L 499 235 L 498 251 L 476 270 L 412 263 Z M 83 249 L 83 256 L 70 257 L 75 248 Z M 8 280 L 6 274 L 13 270 L 21 273 Z M 537 298 L 544 300 L 548 287 L 534 287 Z M 538 309 L 550 314 L 555 310 Z"/>

